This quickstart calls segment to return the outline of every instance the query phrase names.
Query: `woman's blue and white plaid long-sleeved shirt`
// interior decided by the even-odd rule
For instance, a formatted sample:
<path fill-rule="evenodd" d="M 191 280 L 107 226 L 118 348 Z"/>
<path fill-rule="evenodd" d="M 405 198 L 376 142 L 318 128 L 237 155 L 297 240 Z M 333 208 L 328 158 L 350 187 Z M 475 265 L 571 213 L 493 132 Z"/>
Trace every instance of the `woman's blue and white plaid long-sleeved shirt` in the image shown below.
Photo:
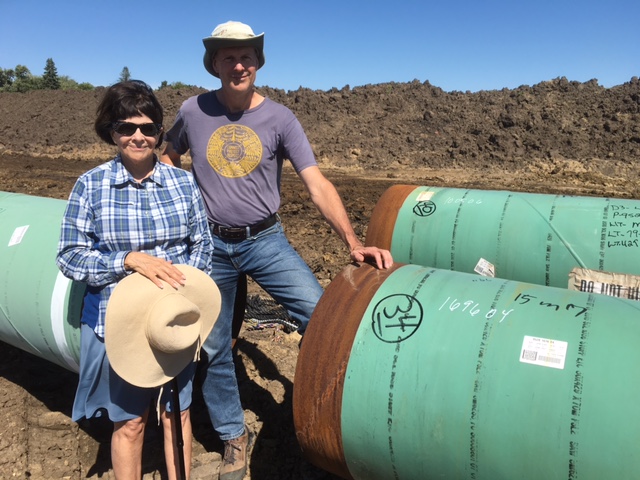
<path fill-rule="evenodd" d="M 95 325 L 104 337 L 107 302 L 129 252 L 144 252 L 211 273 L 213 243 L 202 196 L 191 173 L 160 163 L 137 183 L 119 156 L 78 178 L 64 217 L 56 263 L 97 295 Z M 92 315 L 93 316 L 93 315 Z"/>

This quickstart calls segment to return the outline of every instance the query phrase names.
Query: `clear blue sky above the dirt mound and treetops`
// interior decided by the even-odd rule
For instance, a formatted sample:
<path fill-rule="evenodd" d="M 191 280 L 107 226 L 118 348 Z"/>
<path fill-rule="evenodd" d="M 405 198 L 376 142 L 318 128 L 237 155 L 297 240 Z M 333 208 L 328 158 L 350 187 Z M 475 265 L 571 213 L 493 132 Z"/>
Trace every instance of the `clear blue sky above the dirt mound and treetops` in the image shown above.
<path fill-rule="evenodd" d="M 123 67 L 217 88 L 202 38 L 227 20 L 265 33 L 258 85 L 328 90 L 428 80 L 445 91 L 566 77 L 612 87 L 640 76 L 638 0 L 0 0 L 0 68 L 95 86 Z"/>

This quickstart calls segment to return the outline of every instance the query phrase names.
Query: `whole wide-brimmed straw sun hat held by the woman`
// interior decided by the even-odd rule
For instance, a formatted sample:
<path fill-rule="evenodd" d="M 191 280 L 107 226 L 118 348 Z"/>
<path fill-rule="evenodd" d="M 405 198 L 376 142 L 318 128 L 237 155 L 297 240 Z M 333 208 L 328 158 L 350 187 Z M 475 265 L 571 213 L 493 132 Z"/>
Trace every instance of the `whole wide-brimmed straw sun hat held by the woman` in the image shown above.
<path fill-rule="evenodd" d="M 193 362 L 220 313 L 220 291 L 209 275 L 176 265 L 186 285 L 158 288 L 133 273 L 114 289 L 105 319 L 105 347 L 115 372 L 138 387 L 157 387 Z"/>

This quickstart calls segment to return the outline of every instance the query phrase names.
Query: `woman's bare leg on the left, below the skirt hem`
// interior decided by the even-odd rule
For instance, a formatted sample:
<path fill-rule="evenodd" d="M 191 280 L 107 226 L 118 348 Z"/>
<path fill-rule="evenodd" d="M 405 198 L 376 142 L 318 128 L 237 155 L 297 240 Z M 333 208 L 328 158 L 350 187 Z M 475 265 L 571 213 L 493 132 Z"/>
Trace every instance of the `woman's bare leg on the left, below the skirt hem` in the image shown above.
<path fill-rule="evenodd" d="M 142 478 L 142 446 L 147 410 L 142 417 L 115 422 L 111 436 L 111 463 L 117 479 Z"/>

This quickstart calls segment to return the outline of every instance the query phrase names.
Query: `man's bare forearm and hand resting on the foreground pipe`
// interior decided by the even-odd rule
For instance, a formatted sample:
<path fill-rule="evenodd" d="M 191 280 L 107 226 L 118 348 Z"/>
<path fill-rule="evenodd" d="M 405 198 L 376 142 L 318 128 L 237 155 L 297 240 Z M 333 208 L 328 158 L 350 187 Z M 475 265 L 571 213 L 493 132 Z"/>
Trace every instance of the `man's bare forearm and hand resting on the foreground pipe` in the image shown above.
<path fill-rule="evenodd" d="M 373 246 L 365 247 L 360 242 L 351 226 L 340 194 L 317 166 L 305 168 L 300 172 L 300 178 L 311 196 L 311 201 L 349 248 L 349 254 L 353 260 L 363 262 L 371 258 L 378 268 L 389 268 L 393 265 L 393 258 L 388 250 Z"/>

